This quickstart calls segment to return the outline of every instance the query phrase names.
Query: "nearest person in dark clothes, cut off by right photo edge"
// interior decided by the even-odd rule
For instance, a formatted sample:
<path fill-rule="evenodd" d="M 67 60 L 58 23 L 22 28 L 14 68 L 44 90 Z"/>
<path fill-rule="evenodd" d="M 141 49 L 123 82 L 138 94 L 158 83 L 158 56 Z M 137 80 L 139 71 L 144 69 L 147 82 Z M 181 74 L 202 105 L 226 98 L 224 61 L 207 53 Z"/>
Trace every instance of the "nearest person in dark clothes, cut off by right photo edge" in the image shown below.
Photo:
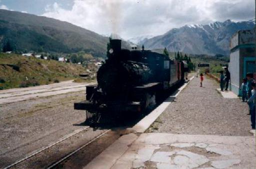
<path fill-rule="evenodd" d="M 251 97 L 248 99 L 247 103 L 249 105 L 249 114 L 250 114 L 250 122 L 252 130 L 255 130 L 255 99 L 256 99 L 256 83 L 251 83 Z"/>

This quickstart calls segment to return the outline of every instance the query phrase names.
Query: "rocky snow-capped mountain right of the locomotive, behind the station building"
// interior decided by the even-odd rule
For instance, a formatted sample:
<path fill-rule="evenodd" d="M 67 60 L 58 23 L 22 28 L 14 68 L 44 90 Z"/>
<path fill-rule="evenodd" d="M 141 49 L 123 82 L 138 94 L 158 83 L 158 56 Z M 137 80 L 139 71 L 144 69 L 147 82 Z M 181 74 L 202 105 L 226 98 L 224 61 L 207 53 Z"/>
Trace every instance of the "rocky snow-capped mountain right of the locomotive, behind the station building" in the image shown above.
<path fill-rule="evenodd" d="M 166 47 L 169 51 L 190 54 L 229 54 L 229 41 L 238 30 L 253 29 L 255 20 L 191 24 L 173 28 L 163 35 L 140 40 L 146 49 Z"/>

